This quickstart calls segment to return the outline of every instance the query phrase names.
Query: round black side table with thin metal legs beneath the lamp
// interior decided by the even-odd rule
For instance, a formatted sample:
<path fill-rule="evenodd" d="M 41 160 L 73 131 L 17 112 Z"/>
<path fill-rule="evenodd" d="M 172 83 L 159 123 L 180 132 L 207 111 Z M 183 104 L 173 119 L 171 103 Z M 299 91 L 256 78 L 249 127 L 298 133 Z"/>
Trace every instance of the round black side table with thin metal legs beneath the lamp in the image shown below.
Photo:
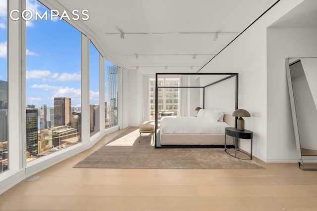
<path fill-rule="evenodd" d="M 229 149 L 229 148 L 226 148 L 226 136 L 227 135 L 230 135 L 230 136 L 234 137 L 234 146 L 235 146 L 235 155 L 234 156 L 227 152 L 227 149 Z M 243 151 L 240 151 L 240 148 L 238 148 L 238 138 L 250 139 L 251 140 L 251 153 L 250 153 L 250 155 L 245 153 L 245 152 L 243 152 Z M 225 128 L 225 134 L 224 134 L 224 151 L 226 153 L 228 153 L 228 155 L 231 155 L 231 156 L 233 156 L 235 158 L 238 158 L 237 157 L 237 151 L 239 151 L 239 152 L 242 152 L 242 153 L 244 153 L 244 154 L 246 154 L 247 156 L 250 157 L 250 159 L 242 159 L 242 158 L 239 158 L 239 159 L 241 159 L 241 160 L 252 160 L 252 138 L 253 138 L 253 132 L 250 131 L 250 130 L 247 130 L 247 129 L 239 130 L 239 129 L 235 128 L 235 127 L 226 127 Z"/>

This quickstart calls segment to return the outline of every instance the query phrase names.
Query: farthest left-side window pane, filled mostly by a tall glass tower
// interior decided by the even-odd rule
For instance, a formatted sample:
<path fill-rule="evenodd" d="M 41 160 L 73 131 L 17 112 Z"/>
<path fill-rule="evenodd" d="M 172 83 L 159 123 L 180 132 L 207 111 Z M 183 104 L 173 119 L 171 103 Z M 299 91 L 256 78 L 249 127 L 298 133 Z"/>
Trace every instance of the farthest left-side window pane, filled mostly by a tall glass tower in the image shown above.
<path fill-rule="evenodd" d="M 118 67 L 105 60 L 105 127 L 118 125 Z"/>

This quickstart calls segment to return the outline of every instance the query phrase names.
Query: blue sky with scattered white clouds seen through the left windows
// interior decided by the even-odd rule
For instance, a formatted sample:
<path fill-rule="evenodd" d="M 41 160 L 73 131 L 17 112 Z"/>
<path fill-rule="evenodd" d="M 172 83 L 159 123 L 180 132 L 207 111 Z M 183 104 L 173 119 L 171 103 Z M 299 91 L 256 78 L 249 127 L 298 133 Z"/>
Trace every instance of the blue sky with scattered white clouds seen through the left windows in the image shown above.
<path fill-rule="evenodd" d="M 6 63 L 7 41 L 5 4 L 6 0 L 0 0 L 0 80 L 4 81 L 6 74 L 2 66 Z M 48 11 L 48 20 L 33 18 L 26 21 L 26 105 L 53 107 L 54 97 L 69 97 L 72 107 L 80 107 L 81 33 L 59 17 L 51 20 L 51 10 L 36 0 L 27 0 L 26 8 L 34 11 L 33 14 L 36 10 L 40 14 Z M 89 56 L 90 104 L 99 104 L 99 52 L 91 42 Z M 105 60 L 105 68 L 112 65 Z"/>

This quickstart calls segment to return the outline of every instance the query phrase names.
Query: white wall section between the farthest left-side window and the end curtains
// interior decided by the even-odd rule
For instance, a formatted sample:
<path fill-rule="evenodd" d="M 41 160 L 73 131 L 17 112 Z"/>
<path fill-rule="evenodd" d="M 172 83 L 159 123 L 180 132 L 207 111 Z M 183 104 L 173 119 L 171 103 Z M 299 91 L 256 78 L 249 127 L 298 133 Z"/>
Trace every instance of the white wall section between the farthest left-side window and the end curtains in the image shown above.
<path fill-rule="evenodd" d="M 129 126 L 142 124 L 143 76 L 139 71 L 129 70 Z"/>

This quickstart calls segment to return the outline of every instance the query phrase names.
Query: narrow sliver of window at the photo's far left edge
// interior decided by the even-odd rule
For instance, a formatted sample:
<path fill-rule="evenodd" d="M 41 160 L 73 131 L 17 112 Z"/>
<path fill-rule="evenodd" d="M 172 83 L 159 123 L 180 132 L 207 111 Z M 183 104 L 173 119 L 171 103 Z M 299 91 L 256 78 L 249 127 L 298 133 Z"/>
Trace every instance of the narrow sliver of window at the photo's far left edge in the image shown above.
<path fill-rule="evenodd" d="M 7 0 L 0 0 L 0 172 L 8 169 Z"/>

